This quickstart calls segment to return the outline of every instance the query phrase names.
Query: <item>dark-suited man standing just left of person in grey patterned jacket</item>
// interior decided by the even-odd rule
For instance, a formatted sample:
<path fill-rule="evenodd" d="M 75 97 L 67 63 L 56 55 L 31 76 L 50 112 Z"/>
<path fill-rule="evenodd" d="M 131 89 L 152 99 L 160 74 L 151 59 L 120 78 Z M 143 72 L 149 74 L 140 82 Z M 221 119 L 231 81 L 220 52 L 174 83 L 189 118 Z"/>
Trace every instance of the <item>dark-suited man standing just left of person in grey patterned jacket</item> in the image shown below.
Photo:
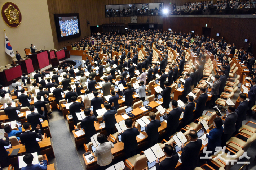
<path fill-rule="evenodd" d="M 195 103 L 197 104 L 195 107 L 195 118 L 199 118 L 200 116 L 203 115 L 203 111 L 205 109 L 205 104 L 207 101 L 208 95 L 205 92 L 205 88 L 201 87 L 200 88 L 200 96 L 198 97 L 197 100 L 194 100 Z"/>

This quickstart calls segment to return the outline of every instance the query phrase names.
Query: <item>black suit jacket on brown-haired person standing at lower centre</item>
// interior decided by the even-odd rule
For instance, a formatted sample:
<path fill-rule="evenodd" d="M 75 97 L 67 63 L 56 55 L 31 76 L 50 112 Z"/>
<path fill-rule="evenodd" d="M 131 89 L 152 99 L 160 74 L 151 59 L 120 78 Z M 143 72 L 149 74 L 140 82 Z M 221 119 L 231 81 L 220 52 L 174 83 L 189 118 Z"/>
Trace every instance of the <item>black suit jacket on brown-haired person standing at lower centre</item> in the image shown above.
<path fill-rule="evenodd" d="M 160 120 L 153 120 L 149 124 L 147 124 L 145 130 L 147 133 L 147 139 L 150 141 L 155 141 L 155 139 L 159 138 L 158 127 L 161 126 Z"/>

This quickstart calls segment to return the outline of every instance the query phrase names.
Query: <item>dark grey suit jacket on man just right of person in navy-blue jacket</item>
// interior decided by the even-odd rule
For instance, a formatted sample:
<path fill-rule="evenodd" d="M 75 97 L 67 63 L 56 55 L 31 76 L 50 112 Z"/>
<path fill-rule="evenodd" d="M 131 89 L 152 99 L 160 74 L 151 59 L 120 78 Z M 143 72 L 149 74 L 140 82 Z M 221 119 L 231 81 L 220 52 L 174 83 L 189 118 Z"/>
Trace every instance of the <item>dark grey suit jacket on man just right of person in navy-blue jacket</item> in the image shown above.
<path fill-rule="evenodd" d="M 226 116 L 226 119 L 223 121 L 224 125 L 224 134 L 233 134 L 235 132 L 235 122 L 237 121 L 238 115 L 236 112 L 233 112 Z"/>

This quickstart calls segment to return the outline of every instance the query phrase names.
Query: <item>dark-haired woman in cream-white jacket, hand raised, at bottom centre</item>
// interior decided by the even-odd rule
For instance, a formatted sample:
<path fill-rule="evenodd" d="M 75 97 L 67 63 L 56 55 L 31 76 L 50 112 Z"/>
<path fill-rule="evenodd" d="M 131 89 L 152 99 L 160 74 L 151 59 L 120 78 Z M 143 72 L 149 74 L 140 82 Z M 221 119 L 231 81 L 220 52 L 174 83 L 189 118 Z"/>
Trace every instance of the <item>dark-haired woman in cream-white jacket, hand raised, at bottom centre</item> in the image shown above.
<path fill-rule="evenodd" d="M 98 157 L 97 164 L 101 166 L 101 170 L 105 170 L 111 166 L 112 159 L 114 159 L 111 149 L 114 148 L 114 144 L 110 141 L 110 136 L 107 137 L 109 142 L 105 142 L 105 135 L 99 134 L 97 141 L 100 143 L 95 148 L 94 156 Z"/>

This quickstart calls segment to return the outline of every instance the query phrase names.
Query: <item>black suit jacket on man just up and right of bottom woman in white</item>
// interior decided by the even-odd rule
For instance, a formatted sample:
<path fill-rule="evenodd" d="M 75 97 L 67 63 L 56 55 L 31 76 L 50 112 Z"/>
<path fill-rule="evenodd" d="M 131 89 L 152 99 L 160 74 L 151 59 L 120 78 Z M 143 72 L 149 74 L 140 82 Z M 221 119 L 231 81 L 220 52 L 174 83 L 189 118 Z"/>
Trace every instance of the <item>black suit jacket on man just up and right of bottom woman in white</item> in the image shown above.
<path fill-rule="evenodd" d="M 137 128 L 131 128 L 125 130 L 121 135 L 121 140 L 124 143 L 124 150 L 136 150 L 138 144 L 136 140 L 136 136 L 140 135 L 140 132 Z"/>

